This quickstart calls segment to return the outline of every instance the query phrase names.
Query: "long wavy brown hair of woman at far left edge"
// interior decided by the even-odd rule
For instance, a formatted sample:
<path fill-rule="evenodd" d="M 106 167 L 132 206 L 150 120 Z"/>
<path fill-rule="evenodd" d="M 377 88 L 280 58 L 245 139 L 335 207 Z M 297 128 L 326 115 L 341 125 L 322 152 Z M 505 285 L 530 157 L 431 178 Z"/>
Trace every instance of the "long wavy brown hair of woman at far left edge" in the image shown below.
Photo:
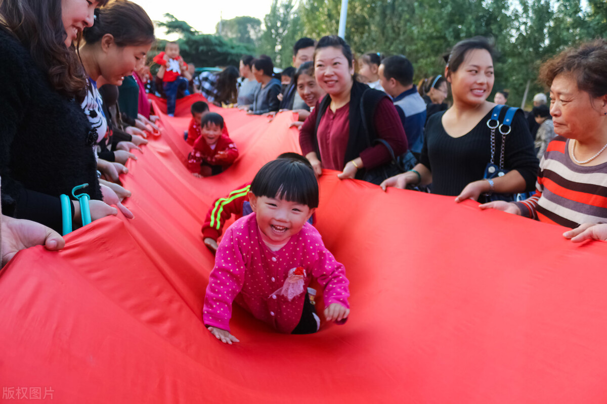
<path fill-rule="evenodd" d="M 66 47 L 61 0 L 0 0 L 0 25 L 29 49 L 53 89 L 68 98 L 84 99 L 86 75 L 73 45 Z"/>

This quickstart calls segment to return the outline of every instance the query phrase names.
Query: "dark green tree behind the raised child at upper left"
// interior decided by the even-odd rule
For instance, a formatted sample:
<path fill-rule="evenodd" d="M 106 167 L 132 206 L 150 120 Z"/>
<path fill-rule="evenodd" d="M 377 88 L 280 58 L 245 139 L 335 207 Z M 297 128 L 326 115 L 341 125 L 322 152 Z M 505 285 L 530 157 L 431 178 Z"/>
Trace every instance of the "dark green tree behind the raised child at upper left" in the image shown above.
<path fill-rule="evenodd" d="M 180 21 L 171 14 L 165 14 L 167 21 L 157 22 L 164 27 L 167 33 L 177 33 L 180 54 L 187 63 L 194 63 L 197 67 L 212 66 L 239 66 L 242 55 L 254 53 L 253 44 L 242 44 L 232 39 L 224 39 L 217 35 L 203 35 L 194 30 L 187 22 Z M 257 20 L 259 21 L 259 20 Z M 166 41 L 158 41 L 157 50 L 151 52 L 151 57 L 164 49 Z"/>

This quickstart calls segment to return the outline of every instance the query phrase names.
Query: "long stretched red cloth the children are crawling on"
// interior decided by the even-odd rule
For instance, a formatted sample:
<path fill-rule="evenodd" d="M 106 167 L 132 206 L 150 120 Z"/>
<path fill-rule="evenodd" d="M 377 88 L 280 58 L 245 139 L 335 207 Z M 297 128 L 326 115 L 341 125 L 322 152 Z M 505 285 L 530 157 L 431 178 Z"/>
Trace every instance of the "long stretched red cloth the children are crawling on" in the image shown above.
<path fill-rule="evenodd" d="M 62 404 L 607 402 L 607 243 L 572 244 L 565 227 L 385 193 L 329 170 L 316 227 L 347 268 L 347 325 L 283 335 L 236 308 L 241 342 L 222 345 L 202 323 L 214 256 L 200 223 L 217 195 L 299 142 L 291 114 L 268 123 L 211 106 L 242 153 L 220 175 L 194 178 L 183 131 L 200 99 L 178 101 L 175 118 L 155 107 L 162 134 L 121 175 L 133 220 L 94 221 L 63 251 L 33 247 L 0 272 L 7 394 L 48 387 Z"/>

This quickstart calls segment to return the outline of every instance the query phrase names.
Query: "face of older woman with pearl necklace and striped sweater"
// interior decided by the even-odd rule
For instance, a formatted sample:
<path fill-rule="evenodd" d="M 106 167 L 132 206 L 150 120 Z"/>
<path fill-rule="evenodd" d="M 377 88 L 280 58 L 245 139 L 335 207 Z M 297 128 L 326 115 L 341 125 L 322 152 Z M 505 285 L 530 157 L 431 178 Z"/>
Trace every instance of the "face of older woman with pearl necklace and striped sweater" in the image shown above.
<path fill-rule="evenodd" d="M 602 102 L 578 89 L 574 77 L 556 76 L 550 87 L 550 100 L 550 115 L 557 135 L 578 139 L 599 134 L 603 122 Z"/>

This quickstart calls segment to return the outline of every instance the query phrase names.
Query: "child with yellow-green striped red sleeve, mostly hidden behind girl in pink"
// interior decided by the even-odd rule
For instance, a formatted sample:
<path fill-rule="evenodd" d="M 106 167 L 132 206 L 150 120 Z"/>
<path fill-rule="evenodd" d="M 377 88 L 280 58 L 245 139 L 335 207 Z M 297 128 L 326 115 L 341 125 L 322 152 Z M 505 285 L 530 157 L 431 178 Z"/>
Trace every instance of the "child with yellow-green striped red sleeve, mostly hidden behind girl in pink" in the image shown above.
<path fill-rule="evenodd" d="M 282 153 L 277 158 L 297 160 L 310 165 L 307 158 L 297 153 Z M 212 252 L 217 251 L 217 239 L 222 235 L 223 225 L 226 223 L 226 220 L 229 220 L 232 215 L 238 220 L 253 212 L 249 203 L 250 189 L 251 183 L 243 184 L 229 192 L 225 197 L 217 198 L 211 205 L 211 209 L 206 214 L 205 224 L 202 225 L 202 236 L 205 246 L 209 247 Z M 308 223 L 314 224 L 313 220 L 314 215 Z"/>

